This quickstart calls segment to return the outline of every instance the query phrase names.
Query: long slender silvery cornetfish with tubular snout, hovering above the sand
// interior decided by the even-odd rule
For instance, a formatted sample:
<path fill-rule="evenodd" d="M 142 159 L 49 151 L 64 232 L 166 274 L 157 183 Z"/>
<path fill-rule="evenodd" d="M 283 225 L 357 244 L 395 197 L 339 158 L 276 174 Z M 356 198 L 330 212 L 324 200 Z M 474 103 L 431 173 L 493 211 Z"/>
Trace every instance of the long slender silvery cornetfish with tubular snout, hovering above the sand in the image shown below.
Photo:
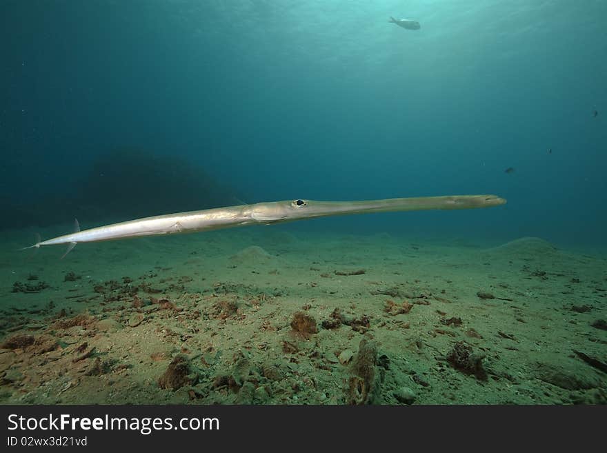
<path fill-rule="evenodd" d="M 393 198 L 368 201 L 311 201 L 304 199 L 254 203 L 212 208 L 200 211 L 164 214 L 111 225 L 76 231 L 27 248 L 41 245 L 68 244 L 66 256 L 79 242 L 112 241 L 158 234 L 193 233 L 245 225 L 270 225 L 316 217 L 330 217 L 372 212 L 421 211 L 433 209 L 473 209 L 503 205 L 506 200 L 496 195 L 454 195 L 446 197 Z"/>

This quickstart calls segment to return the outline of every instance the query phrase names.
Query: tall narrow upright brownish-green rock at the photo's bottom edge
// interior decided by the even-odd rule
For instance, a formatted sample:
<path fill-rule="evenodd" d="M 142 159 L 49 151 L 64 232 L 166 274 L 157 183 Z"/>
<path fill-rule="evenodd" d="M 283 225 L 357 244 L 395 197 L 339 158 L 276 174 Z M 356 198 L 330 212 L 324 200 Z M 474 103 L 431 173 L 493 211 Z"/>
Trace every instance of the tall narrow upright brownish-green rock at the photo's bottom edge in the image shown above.
<path fill-rule="evenodd" d="M 362 339 L 350 370 L 346 399 L 349 404 L 372 404 L 379 394 L 383 374 L 378 372 L 377 345 Z"/>

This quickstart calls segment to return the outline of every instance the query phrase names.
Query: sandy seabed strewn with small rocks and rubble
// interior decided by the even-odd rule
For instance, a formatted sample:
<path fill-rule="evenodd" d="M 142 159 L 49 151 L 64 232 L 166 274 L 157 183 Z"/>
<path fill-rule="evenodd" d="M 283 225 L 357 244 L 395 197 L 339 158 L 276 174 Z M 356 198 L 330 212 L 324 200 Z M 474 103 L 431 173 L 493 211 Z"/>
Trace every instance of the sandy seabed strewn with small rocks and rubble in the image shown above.
<path fill-rule="evenodd" d="M 607 261 L 278 228 L 0 248 L 0 403 L 607 402 Z"/>

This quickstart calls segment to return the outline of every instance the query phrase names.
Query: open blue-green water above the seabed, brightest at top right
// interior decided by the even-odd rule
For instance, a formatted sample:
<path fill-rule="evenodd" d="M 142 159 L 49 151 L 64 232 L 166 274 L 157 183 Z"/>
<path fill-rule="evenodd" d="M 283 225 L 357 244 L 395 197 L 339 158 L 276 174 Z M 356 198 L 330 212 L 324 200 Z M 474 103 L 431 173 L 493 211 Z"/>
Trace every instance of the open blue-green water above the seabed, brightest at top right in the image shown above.
<path fill-rule="evenodd" d="M 247 202 L 508 199 L 297 228 L 604 248 L 606 23 L 604 0 L 3 0 L 3 225 L 70 222 L 93 163 L 126 148 Z"/>

